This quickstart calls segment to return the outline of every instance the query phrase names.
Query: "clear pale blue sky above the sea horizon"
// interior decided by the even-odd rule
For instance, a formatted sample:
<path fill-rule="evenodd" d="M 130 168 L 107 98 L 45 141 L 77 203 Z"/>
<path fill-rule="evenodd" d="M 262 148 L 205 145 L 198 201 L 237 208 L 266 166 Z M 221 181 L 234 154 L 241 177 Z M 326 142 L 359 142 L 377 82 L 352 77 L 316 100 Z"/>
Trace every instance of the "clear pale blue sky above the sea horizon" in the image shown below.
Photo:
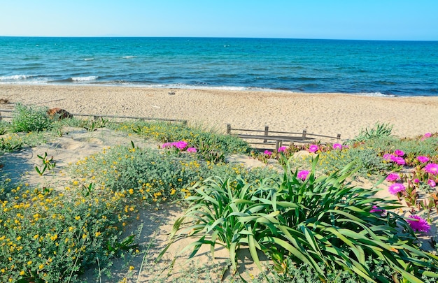
<path fill-rule="evenodd" d="M 438 0 L 1 0 L 0 36 L 438 41 Z"/>

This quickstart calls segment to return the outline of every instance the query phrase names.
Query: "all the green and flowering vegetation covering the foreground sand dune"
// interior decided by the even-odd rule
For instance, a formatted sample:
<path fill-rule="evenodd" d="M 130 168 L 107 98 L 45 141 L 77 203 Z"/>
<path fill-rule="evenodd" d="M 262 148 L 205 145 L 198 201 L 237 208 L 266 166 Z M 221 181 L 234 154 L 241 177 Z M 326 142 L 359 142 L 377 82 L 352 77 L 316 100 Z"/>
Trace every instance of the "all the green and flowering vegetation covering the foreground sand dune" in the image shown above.
<path fill-rule="evenodd" d="M 417 239 L 435 225 L 438 133 L 400 139 L 391 135 L 390 125 L 376 124 L 344 144 L 253 152 L 283 169 L 248 170 L 224 162 L 228 154 L 250 154 L 248 143 L 200 127 L 45 116 L 43 108 L 17 105 L 12 122 L 0 124 L 1 152 L 62 136 L 64 126 L 108 127 L 162 145 L 141 148 L 127 138 L 126 145 L 80 159 L 69 166 L 72 180 L 62 191 L 13 184 L 4 175 L 1 282 L 79 282 L 88 268 L 110 275 L 116 256 L 148 248 L 136 245 L 135 234 L 124 234 L 139 208 L 169 202 L 188 209 L 176 221 L 167 248 L 178 238 L 196 236 L 186 248 L 192 256 L 202 245 L 222 246 L 236 270 L 236 253 L 246 247 L 260 270 L 271 271 L 253 282 L 435 282 L 438 277 L 438 257 L 423 251 Z M 309 154 L 295 157 L 300 150 Z M 55 167 L 47 154 L 41 162 L 40 175 Z M 407 216 L 398 213 L 399 201 L 353 186 L 358 176 L 388 184 L 390 194 L 407 204 Z M 260 252 L 271 265 L 262 266 Z"/>

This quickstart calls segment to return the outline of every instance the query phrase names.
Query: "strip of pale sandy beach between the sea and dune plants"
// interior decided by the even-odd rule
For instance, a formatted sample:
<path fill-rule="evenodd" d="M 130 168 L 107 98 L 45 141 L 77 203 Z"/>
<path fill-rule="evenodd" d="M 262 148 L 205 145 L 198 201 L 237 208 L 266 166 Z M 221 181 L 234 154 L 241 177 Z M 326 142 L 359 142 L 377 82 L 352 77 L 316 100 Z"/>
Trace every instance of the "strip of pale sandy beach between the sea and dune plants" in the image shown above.
<path fill-rule="evenodd" d="M 23 103 L 80 114 L 187 119 L 189 124 L 224 132 L 226 124 L 240 129 L 269 126 L 271 131 L 340 133 L 344 140 L 376 122 L 393 125 L 393 133 L 400 137 L 438 131 L 438 96 L 0 85 L 0 99 L 8 99 L 9 108 Z"/>

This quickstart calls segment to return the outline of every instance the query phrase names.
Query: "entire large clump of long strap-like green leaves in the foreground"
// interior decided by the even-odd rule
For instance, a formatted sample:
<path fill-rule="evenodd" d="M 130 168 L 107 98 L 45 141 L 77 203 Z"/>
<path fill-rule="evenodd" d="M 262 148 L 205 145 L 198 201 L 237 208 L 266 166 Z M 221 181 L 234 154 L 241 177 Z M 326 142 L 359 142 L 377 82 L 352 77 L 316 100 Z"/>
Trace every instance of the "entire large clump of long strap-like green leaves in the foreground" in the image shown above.
<path fill-rule="evenodd" d="M 257 249 L 269 254 L 276 270 L 290 268 L 285 259 L 305 263 L 322 280 L 325 270 L 345 268 L 371 282 L 390 282 L 390 278 L 374 273 L 367 263 L 384 261 L 394 272 L 411 282 L 421 282 L 422 275 L 438 277 L 438 257 L 422 252 L 415 245 L 414 232 L 402 217 L 391 212 L 394 201 L 376 198 L 376 190 L 351 187 L 346 180 L 353 175 L 354 164 L 316 177 L 318 157 L 305 180 L 286 167 L 283 181 L 272 185 L 260 182 L 253 187 L 239 180 L 218 182 L 208 179 L 195 187 L 189 199 L 192 206 L 178 219 L 171 241 L 186 218 L 190 235 L 199 238 L 186 247 L 195 255 L 201 245 L 223 245 L 234 257 L 239 245 L 248 245 L 257 266 Z M 383 179 L 382 179 L 383 181 Z M 374 205 L 386 210 L 373 212 Z M 402 231 L 400 230 L 402 229 Z M 185 234 L 187 235 L 187 234 Z M 171 245 L 171 242 L 170 244 Z M 162 252 L 162 254 L 166 251 Z"/>

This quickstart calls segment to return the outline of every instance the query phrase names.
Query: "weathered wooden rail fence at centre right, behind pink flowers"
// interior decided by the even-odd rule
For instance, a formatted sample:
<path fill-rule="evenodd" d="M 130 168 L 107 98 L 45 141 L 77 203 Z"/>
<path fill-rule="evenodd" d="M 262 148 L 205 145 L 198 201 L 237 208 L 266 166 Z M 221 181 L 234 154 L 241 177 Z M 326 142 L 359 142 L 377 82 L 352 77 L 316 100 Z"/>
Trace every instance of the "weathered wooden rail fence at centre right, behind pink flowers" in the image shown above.
<path fill-rule="evenodd" d="M 321 138 L 327 140 L 341 140 L 341 134 L 337 136 L 323 136 L 316 133 L 307 133 L 303 130 L 301 133 L 287 132 L 287 131 L 269 131 L 269 126 L 264 126 L 264 130 L 250 130 L 250 129 L 234 129 L 231 124 L 227 124 L 227 135 L 234 135 L 245 140 L 252 145 L 275 145 L 275 149 L 281 147 L 283 143 L 314 143 Z"/>

